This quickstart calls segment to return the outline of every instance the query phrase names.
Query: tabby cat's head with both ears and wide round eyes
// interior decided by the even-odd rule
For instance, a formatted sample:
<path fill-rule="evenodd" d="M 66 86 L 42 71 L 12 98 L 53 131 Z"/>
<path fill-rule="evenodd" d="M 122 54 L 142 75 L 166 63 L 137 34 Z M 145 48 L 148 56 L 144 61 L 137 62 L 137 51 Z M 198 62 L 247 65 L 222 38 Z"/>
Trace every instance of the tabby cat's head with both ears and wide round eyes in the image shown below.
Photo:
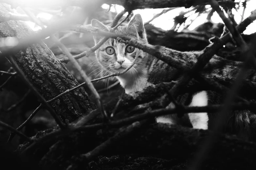
<path fill-rule="evenodd" d="M 118 29 L 115 30 L 115 33 L 124 34 L 137 39 L 136 30 L 133 24 L 136 26 L 139 33 L 139 39 L 148 43 L 142 18 L 139 14 L 136 14 L 127 26 L 119 26 Z M 91 25 L 98 27 L 103 31 L 109 31 L 109 28 L 98 20 L 92 20 Z M 97 44 L 101 39 L 103 39 L 103 37 L 94 36 L 95 44 Z M 133 63 L 137 50 L 139 49 L 120 43 L 116 39 L 109 38 L 95 53 L 101 67 L 108 72 L 114 73 L 121 72 L 128 68 Z M 147 60 L 146 56 L 147 54 L 145 52 L 139 50 L 135 65 L 127 72 L 138 72 L 143 70 Z"/>

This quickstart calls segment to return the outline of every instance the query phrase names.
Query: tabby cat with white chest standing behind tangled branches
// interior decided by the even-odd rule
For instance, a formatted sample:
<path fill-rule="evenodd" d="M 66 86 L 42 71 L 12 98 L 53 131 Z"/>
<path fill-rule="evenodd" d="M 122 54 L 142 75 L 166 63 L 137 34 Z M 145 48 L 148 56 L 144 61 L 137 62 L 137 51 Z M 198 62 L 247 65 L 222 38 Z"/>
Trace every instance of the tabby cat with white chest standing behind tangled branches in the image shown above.
<path fill-rule="evenodd" d="M 95 19 L 91 21 L 91 25 L 103 31 L 110 30 L 103 23 Z M 134 25 L 138 32 L 139 40 L 148 43 L 147 34 L 140 14 L 134 15 L 126 26 L 119 26 L 117 30 L 115 30 L 115 33 L 124 34 L 136 39 Z M 102 38 L 101 36 L 94 36 L 95 44 Z M 200 54 L 202 54 L 202 52 L 198 51 L 180 52 L 163 46 L 155 47 L 162 53 L 168 54 L 190 67 L 197 61 Z M 137 50 L 139 49 L 110 38 L 95 51 L 95 54 L 101 67 L 109 73 L 114 73 L 121 72 L 129 67 L 135 59 Z M 214 55 L 210 62 L 204 67 L 203 73 L 205 75 L 218 74 L 235 77 L 241 65 L 241 62 L 227 60 Z M 177 81 L 181 76 L 182 72 L 180 70 L 170 67 L 156 57 L 139 50 L 135 65 L 123 75 L 116 76 L 116 78 L 125 89 L 125 93 L 131 94 L 149 85 L 155 85 L 160 82 Z M 255 82 L 255 70 L 250 70 L 250 74 L 246 78 Z M 178 96 L 176 100 L 181 104 L 189 106 L 207 106 L 208 104 L 221 103 L 222 98 L 221 94 L 214 91 L 199 91 L 196 93 L 185 93 L 184 95 Z M 173 108 L 175 106 L 173 103 L 170 103 L 168 107 Z M 228 116 L 223 131 L 235 133 L 244 139 L 252 139 L 255 137 L 256 115 L 247 110 L 235 112 L 236 114 L 230 113 Z M 216 114 L 189 113 L 184 114 L 183 118 L 178 118 L 177 115 L 171 114 L 156 117 L 156 122 L 180 124 L 194 129 L 206 130 L 211 129 L 215 121 L 217 121 Z"/>

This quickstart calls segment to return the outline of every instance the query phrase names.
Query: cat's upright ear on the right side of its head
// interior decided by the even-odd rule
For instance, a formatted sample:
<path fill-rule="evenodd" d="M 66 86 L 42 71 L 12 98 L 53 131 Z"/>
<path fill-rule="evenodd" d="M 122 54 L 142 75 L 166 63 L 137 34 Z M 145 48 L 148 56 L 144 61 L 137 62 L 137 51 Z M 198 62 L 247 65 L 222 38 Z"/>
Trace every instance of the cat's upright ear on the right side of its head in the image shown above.
<path fill-rule="evenodd" d="M 143 24 L 143 21 L 142 21 L 142 18 L 141 18 L 140 14 L 134 15 L 134 17 L 131 19 L 131 21 L 127 24 L 126 29 L 127 30 L 128 29 L 134 30 L 133 24 L 135 25 L 135 27 L 136 27 L 136 29 L 137 29 L 137 31 L 139 33 L 139 36 L 141 38 L 146 38 L 144 24 Z"/>

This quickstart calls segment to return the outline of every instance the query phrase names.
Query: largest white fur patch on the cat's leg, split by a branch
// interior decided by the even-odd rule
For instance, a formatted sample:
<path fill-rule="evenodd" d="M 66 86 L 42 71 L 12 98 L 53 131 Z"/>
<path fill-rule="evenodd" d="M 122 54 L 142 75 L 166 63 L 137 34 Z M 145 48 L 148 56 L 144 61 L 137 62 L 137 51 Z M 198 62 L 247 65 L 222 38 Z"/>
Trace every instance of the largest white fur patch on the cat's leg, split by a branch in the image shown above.
<path fill-rule="evenodd" d="M 207 104 L 207 93 L 201 91 L 193 96 L 190 106 L 207 106 Z M 208 129 L 209 117 L 207 113 L 189 113 L 188 116 L 194 129 Z"/>

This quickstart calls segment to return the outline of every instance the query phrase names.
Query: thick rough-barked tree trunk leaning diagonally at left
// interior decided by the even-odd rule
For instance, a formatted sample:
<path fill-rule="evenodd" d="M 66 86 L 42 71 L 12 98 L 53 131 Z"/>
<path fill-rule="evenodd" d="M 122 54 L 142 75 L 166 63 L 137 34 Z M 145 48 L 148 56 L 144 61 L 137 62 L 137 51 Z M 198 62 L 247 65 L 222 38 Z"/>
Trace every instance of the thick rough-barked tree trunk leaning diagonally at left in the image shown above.
<path fill-rule="evenodd" d="M 0 4 L 1 15 L 11 12 L 9 5 Z M 25 23 L 8 21 L 0 23 L 0 37 L 17 37 L 22 39 L 35 32 Z M 43 43 L 33 44 L 20 51 L 14 57 L 15 62 L 26 78 L 46 99 L 51 100 L 60 93 L 71 89 L 79 83 L 69 70 L 58 61 Z M 83 87 L 80 87 L 50 103 L 64 122 L 71 123 L 95 108 Z"/>

